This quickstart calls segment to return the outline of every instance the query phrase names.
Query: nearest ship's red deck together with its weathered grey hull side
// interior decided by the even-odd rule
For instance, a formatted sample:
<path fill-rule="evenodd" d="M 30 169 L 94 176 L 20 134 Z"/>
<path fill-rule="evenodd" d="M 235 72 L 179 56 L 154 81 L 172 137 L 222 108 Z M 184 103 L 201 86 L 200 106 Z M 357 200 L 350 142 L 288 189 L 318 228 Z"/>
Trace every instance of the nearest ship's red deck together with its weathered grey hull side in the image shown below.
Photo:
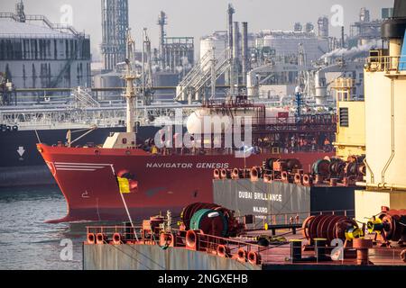
<path fill-rule="evenodd" d="M 406 262 L 401 259 L 401 251 L 405 247 L 401 247 L 397 243 L 392 243 L 392 247 L 381 247 L 379 244 L 374 247 L 367 248 L 366 262 L 360 263 L 357 259 L 358 251 L 351 247 L 344 247 L 344 257 L 333 260 L 331 251 L 337 248 L 334 245 L 324 247 L 319 250 L 316 257 L 316 249 L 309 245 L 309 241 L 303 237 L 300 225 L 297 224 L 294 229 L 254 229 L 246 230 L 246 233 L 235 238 L 219 238 L 210 235 L 198 234 L 197 247 L 190 248 L 186 244 L 186 231 L 173 229 L 171 235 L 174 237 L 172 245 L 163 248 L 168 252 L 162 253 L 162 243 L 155 238 L 140 239 L 138 241 L 128 240 L 121 241 L 119 244 L 114 244 L 108 240 L 109 229 L 111 233 L 118 231 L 120 228 L 100 228 L 88 227 L 88 233 L 102 232 L 107 235 L 104 243 L 106 245 L 91 245 L 88 242 L 84 243 L 85 262 L 94 262 L 93 268 L 99 267 L 100 263 L 115 263 L 115 266 L 106 266 L 104 268 L 125 268 L 132 269 L 132 266 L 120 266 L 125 262 L 124 259 L 129 254 L 137 257 L 140 253 L 143 257 L 151 260 L 151 265 L 155 269 L 164 267 L 168 270 L 182 269 L 183 266 L 188 269 L 255 269 L 255 270 L 383 270 L 383 269 L 405 269 Z M 128 227 L 127 227 L 128 229 Z M 128 230 L 127 230 L 128 231 Z M 266 236 L 277 239 L 269 246 L 259 246 L 255 237 Z M 374 234 L 366 235 L 365 238 L 373 238 Z M 292 243 L 300 243 L 300 259 L 294 259 L 292 251 Z M 218 246 L 226 247 L 225 255 L 220 255 Z M 238 257 L 239 249 L 245 250 L 243 260 Z M 339 250 L 339 249 L 338 249 Z M 122 256 L 117 253 L 124 253 Z M 141 253 L 143 251 L 143 253 Z M 256 252 L 258 260 L 250 258 L 249 252 Z M 296 249 L 296 252 L 298 250 Z M 167 257 L 167 258 L 162 258 Z M 296 254 L 297 257 L 297 254 Z M 152 261 L 153 259 L 153 261 Z M 181 261 L 180 261 L 181 259 Z M 96 263 L 96 264 L 95 264 Z M 132 261 L 134 265 L 134 261 Z M 156 263 L 160 263 L 158 266 Z M 196 266 L 197 265 L 197 266 Z M 143 267 L 135 267 L 134 269 L 143 269 Z"/>

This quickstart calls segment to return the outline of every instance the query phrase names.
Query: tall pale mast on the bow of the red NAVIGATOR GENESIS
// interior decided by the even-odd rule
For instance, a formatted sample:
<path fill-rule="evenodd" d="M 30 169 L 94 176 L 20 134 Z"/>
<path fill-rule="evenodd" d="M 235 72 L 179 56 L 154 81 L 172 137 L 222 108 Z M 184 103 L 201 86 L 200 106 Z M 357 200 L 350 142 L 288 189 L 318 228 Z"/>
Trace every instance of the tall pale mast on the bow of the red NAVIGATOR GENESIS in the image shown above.
<path fill-rule="evenodd" d="M 135 75 L 133 71 L 132 64 L 134 63 L 134 46 L 135 42 L 131 37 L 130 30 L 127 34 L 127 45 L 126 45 L 126 54 L 127 58 L 125 59 L 125 101 L 126 101 L 126 118 L 127 118 L 127 133 L 135 133 L 136 139 L 136 130 L 134 129 L 134 116 L 136 116 L 136 94 L 134 90 L 134 80 Z"/>

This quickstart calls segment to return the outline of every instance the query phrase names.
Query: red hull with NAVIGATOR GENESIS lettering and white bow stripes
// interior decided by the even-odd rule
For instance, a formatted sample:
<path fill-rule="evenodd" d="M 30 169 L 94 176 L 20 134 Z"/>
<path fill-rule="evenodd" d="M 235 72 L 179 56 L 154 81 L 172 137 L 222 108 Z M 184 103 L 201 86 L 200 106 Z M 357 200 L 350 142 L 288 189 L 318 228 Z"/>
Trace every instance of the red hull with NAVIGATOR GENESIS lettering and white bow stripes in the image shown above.
<path fill-rule="evenodd" d="M 333 153 L 223 155 L 151 155 L 140 149 L 66 148 L 38 144 L 42 157 L 64 194 L 68 214 L 53 222 L 128 220 L 116 174 L 127 170 L 138 187 L 123 193 L 133 219 L 171 210 L 179 215 L 191 202 L 213 202 L 214 168 L 252 167 L 269 157 L 295 157 L 305 171 Z"/>

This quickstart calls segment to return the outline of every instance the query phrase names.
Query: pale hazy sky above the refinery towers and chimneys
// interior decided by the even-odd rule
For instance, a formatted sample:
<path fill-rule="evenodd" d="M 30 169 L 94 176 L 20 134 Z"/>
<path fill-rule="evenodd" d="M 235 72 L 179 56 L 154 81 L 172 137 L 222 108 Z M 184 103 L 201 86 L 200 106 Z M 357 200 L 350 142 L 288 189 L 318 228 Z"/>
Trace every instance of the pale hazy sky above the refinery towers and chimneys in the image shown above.
<path fill-rule="evenodd" d="M 14 12 L 17 0 L 0 0 L 1 12 Z M 52 22 L 59 23 L 61 7 L 72 7 L 73 25 L 78 31 L 91 35 L 95 53 L 101 41 L 101 0 L 24 0 L 25 14 L 43 14 Z M 381 8 L 392 7 L 393 0 L 128 0 L 130 26 L 135 40 L 140 39 L 143 27 L 147 27 L 152 46 L 158 42 L 156 24 L 160 11 L 168 15 L 168 36 L 193 36 L 195 46 L 201 36 L 226 29 L 228 3 L 235 7 L 235 21 L 248 22 L 249 31 L 262 29 L 291 30 L 293 23 L 311 22 L 317 26 L 320 15 L 334 14 L 331 7 L 343 7 L 346 33 L 349 23 L 358 20 L 361 7 L 371 11 L 373 19 L 380 17 Z M 340 28 L 330 27 L 334 35 Z M 96 56 L 96 55 L 95 55 Z"/>

